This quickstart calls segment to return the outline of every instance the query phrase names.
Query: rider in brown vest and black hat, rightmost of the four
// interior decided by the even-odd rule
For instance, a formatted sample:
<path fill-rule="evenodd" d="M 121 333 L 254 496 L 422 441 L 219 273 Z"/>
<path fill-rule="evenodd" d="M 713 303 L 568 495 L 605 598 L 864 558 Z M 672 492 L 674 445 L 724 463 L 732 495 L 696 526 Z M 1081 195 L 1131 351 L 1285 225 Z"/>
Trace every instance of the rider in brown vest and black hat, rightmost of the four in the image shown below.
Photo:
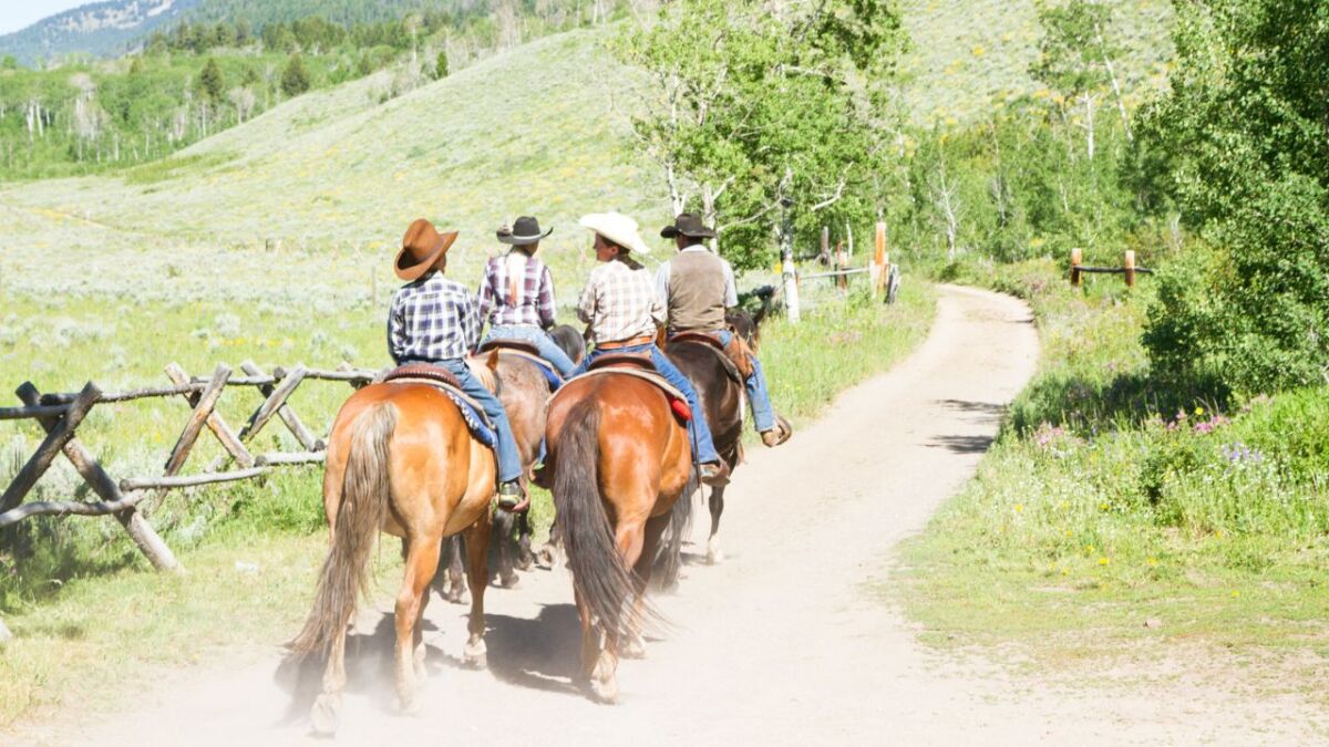
<path fill-rule="evenodd" d="M 734 268 L 702 243 L 715 238 L 715 231 L 696 215 L 683 213 L 672 226 L 664 226 L 661 235 L 674 239 L 678 246 L 678 254 L 655 272 L 655 284 L 668 311 L 668 334 L 703 332 L 728 347 L 734 332 L 724 312 L 739 304 L 739 294 Z M 748 362 L 752 374 L 744 384 L 752 405 L 752 424 L 762 433 L 763 444 L 776 447 L 789 440 L 793 428 L 771 408 L 762 363 L 751 352 Z"/>

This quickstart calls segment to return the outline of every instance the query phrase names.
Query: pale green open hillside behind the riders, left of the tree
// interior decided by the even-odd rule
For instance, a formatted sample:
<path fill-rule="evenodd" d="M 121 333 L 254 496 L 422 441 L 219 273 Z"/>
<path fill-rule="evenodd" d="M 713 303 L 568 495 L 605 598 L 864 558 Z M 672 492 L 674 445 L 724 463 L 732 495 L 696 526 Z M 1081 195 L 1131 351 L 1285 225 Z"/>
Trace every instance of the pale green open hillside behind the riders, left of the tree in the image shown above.
<path fill-rule="evenodd" d="M 462 231 L 460 274 L 522 213 L 556 229 L 550 254 L 581 247 L 586 211 L 664 218 L 611 110 L 609 90 L 630 80 L 594 33 L 571 32 L 385 102 L 391 73 L 308 94 L 124 175 L 0 189 L 0 282 L 177 299 L 296 284 L 363 295 L 371 268 L 389 282 L 396 242 L 420 215 Z M 29 270 L 53 251 L 96 272 Z"/>

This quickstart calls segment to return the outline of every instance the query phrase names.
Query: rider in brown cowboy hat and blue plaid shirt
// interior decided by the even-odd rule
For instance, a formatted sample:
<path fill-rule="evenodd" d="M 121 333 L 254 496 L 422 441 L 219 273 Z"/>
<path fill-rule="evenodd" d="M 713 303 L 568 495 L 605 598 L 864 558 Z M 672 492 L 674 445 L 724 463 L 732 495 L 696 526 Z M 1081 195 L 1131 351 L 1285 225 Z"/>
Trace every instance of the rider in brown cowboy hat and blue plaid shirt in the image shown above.
<path fill-rule="evenodd" d="M 424 218 L 411 223 L 401 239 L 396 274 L 405 286 L 392 296 L 388 314 L 388 352 L 397 366 L 431 363 L 457 377 L 461 391 L 473 399 L 493 424 L 498 457 L 498 505 L 513 508 L 521 501 L 521 459 L 512 437 L 502 403 L 470 374 L 466 356 L 480 342 L 480 312 L 476 299 L 456 280 L 443 276 L 448 249 L 456 231 L 440 234 Z"/>

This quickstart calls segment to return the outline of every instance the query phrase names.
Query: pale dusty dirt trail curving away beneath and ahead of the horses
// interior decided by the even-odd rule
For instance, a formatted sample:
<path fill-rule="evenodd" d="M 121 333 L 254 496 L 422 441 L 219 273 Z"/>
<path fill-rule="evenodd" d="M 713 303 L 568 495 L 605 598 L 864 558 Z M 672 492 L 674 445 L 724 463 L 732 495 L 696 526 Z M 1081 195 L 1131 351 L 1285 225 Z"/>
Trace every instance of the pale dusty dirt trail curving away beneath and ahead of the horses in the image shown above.
<path fill-rule="evenodd" d="M 728 493 L 723 565 L 659 599 L 678 626 L 619 667 L 622 703 L 570 683 L 578 630 L 562 572 L 486 595 L 489 671 L 462 670 L 464 607 L 431 603 L 424 714 L 392 711 L 391 622 L 360 619 L 342 744 L 1306 743 L 1294 707 L 1196 686 L 1067 690 L 929 654 L 867 584 L 974 471 L 1002 407 L 1034 371 L 1027 307 L 944 287 L 928 342 L 847 392 L 812 427 L 750 453 Z M 809 364 L 815 364 L 811 363 Z M 699 524 L 704 525 L 702 520 Z M 700 530 L 700 526 L 698 528 Z M 704 546 L 704 545 L 702 545 Z M 387 595 L 387 593 L 384 594 Z M 380 609 L 388 609 L 381 605 Z M 114 720 L 61 724 L 60 744 L 299 744 L 307 700 L 279 653 L 150 693 Z M 326 743 L 326 742 L 323 742 Z"/>

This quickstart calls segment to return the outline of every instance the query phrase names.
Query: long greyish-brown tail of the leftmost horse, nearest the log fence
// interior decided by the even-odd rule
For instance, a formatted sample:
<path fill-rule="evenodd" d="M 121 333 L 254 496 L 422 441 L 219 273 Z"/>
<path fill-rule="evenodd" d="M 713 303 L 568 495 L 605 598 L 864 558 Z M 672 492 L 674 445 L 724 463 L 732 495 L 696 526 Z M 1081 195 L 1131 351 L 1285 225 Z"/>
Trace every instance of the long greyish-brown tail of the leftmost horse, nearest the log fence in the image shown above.
<path fill-rule="evenodd" d="M 355 614 L 359 595 L 367 591 L 365 566 L 387 517 L 392 493 L 388 482 L 388 439 L 392 437 L 396 423 L 396 407 L 381 403 L 360 415 L 351 432 L 342 482 L 342 506 L 332 530 L 332 549 L 319 572 L 314 607 L 304 621 L 304 629 L 287 643 L 294 658 L 327 651 Z"/>

